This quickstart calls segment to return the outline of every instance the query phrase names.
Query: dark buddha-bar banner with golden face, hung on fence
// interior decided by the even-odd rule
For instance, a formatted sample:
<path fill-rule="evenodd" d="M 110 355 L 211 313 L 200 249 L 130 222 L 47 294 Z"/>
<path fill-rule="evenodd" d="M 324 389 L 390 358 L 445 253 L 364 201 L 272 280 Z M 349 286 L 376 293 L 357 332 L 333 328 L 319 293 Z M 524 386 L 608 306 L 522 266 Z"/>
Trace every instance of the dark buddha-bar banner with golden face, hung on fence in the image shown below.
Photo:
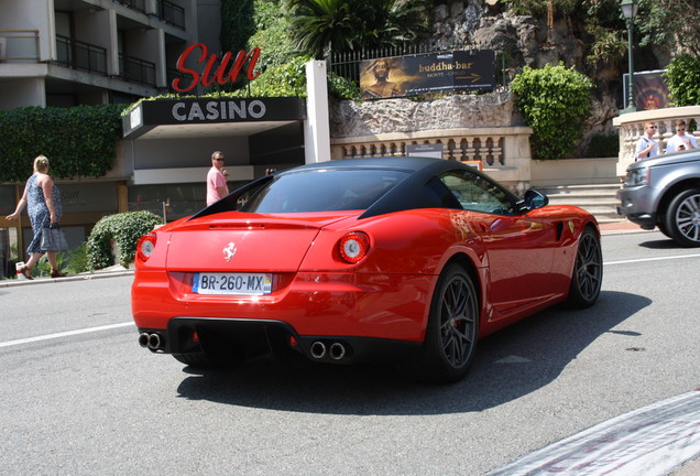
<path fill-rule="evenodd" d="M 495 53 L 488 50 L 391 56 L 360 64 L 363 99 L 492 90 L 494 87 Z"/>

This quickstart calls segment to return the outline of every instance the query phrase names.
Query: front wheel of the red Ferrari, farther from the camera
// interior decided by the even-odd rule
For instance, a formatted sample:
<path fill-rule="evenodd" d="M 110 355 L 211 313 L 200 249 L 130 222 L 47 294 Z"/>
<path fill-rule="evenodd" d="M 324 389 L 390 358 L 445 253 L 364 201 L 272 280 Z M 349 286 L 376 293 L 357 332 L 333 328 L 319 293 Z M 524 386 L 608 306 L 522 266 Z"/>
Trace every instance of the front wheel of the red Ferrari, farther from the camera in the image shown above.
<path fill-rule="evenodd" d="M 592 228 L 586 227 L 576 251 L 567 304 L 579 309 L 592 306 L 598 301 L 602 283 L 603 253 L 600 237 Z"/>

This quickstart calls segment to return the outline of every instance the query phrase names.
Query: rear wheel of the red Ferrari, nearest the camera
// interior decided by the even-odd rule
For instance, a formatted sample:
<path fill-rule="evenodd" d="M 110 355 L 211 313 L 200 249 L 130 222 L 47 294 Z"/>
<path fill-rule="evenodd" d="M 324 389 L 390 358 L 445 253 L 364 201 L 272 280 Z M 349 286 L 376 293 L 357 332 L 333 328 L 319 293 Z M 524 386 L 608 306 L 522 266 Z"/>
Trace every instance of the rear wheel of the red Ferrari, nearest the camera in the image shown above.
<path fill-rule="evenodd" d="M 461 380 L 474 358 L 479 335 L 479 296 L 467 271 L 448 266 L 438 279 L 420 355 L 417 377 L 439 383 Z"/>

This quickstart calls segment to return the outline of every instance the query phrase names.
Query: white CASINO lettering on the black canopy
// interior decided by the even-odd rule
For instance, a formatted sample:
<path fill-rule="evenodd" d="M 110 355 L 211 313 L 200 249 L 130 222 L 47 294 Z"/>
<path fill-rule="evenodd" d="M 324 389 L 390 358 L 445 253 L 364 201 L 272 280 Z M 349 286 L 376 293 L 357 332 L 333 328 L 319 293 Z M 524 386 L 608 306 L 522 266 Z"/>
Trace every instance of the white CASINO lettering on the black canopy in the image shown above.
<path fill-rule="evenodd" d="M 260 119 L 266 111 L 265 104 L 260 99 L 175 102 L 172 109 L 173 118 L 181 122 Z"/>

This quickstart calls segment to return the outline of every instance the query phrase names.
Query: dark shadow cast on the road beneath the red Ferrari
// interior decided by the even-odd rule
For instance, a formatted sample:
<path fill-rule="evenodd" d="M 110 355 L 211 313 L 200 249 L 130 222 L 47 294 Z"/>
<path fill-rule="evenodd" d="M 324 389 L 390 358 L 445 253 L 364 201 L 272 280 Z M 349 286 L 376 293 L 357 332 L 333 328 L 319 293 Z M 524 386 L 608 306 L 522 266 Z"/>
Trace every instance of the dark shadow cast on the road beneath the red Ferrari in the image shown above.
<path fill-rule="evenodd" d="M 613 305 L 614 303 L 614 305 Z M 445 414 L 475 412 L 528 394 L 557 378 L 586 347 L 648 306 L 646 298 L 602 292 L 597 305 L 554 307 L 479 343 L 467 378 L 451 386 L 412 381 L 390 365 L 286 364 L 265 357 L 233 369 L 197 371 L 179 397 L 222 404 L 330 414 Z"/>

